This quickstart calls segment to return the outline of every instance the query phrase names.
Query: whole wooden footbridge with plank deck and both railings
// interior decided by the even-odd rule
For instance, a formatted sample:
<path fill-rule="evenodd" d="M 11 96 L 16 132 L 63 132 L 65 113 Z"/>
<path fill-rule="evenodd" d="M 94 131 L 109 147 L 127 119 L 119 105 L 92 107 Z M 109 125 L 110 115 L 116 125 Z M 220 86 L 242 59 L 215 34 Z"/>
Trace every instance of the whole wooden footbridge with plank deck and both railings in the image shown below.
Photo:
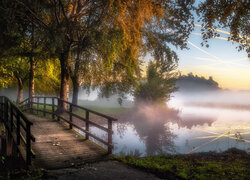
<path fill-rule="evenodd" d="M 0 121 L 28 166 L 69 167 L 112 153 L 116 119 L 57 97 L 33 97 L 17 106 L 1 96 Z"/>

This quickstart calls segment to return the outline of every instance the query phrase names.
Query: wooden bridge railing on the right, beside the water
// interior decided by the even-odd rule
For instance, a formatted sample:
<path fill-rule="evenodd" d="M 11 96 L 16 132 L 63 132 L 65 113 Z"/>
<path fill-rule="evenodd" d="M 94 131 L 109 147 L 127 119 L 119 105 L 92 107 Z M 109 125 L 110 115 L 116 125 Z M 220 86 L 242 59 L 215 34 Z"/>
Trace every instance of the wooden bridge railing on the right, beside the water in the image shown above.
<path fill-rule="evenodd" d="M 60 108 L 62 107 L 62 104 L 66 108 Z M 42 113 L 43 116 L 46 116 L 46 114 L 50 114 L 53 119 L 57 117 L 58 120 L 63 120 L 69 124 L 69 128 L 72 129 L 72 127 L 82 131 L 85 133 L 86 139 L 89 139 L 89 137 L 94 138 L 95 140 L 101 142 L 102 144 L 106 145 L 108 148 L 108 153 L 112 153 L 113 149 L 113 143 L 112 143 L 112 122 L 117 121 L 117 119 L 104 115 L 102 113 L 72 104 L 68 101 L 64 101 L 58 97 L 42 97 L 42 96 L 35 96 L 33 99 L 26 99 L 21 103 L 21 107 L 24 110 L 31 110 L 36 112 L 37 114 Z M 84 116 L 79 112 L 79 110 L 84 111 Z M 64 114 L 68 114 L 69 117 L 65 118 Z M 107 120 L 107 127 L 98 124 L 97 122 L 94 122 L 90 118 L 90 114 L 94 114 L 96 116 L 102 117 Z M 80 121 L 85 122 L 85 129 L 76 123 L 74 123 L 73 118 L 77 118 Z M 92 125 L 98 129 L 101 129 L 105 131 L 108 135 L 108 139 L 105 141 L 104 139 L 98 137 L 97 135 L 94 135 L 90 132 L 89 126 Z"/>

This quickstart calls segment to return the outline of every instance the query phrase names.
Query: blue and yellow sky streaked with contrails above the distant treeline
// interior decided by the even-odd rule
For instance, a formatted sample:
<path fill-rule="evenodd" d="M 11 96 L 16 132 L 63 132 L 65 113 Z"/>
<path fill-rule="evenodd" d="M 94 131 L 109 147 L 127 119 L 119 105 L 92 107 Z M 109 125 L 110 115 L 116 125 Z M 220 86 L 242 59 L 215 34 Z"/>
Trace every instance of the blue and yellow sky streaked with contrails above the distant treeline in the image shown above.
<path fill-rule="evenodd" d="M 202 47 L 200 27 L 189 37 L 189 50 L 176 50 L 182 74 L 212 76 L 221 88 L 250 90 L 250 60 L 245 51 L 236 49 L 237 43 L 222 39 L 209 40 L 209 48 Z M 227 34 L 220 33 L 227 38 Z M 195 46 L 195 47 L 194 47 Z"/>

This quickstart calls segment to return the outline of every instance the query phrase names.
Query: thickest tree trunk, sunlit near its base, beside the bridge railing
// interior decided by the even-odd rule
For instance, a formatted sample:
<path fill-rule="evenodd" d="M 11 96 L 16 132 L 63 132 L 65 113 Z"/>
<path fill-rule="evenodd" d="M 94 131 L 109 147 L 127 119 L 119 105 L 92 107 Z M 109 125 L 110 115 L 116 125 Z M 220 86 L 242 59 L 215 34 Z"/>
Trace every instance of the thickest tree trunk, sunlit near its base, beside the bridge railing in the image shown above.
<path fill-rule="evenodd" d="M 68 101 L 69 99 L 69 51 L 70 48 L 64 50 L 60 55 L 60 63 L 61 63 L 61 89 L 60 89 L 60 98 L 64 101 Z M 59 107 L 66 110 L 67 104 L 60 102 Z"/>

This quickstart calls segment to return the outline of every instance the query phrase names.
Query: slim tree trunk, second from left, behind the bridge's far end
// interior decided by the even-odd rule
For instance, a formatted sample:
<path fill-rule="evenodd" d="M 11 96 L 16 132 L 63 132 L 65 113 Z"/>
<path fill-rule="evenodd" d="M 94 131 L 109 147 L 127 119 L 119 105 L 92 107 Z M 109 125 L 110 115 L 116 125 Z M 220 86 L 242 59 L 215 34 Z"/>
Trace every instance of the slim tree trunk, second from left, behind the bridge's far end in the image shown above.
<path fill-rule="evenodd" d="M 34 78 L 35 62 L 34 58 L 30 57 L 30 71 L 29 71 L 29 99 L 30 106 L 33 106 L 33 96 L 35 96 L 35 78 Z"/>

